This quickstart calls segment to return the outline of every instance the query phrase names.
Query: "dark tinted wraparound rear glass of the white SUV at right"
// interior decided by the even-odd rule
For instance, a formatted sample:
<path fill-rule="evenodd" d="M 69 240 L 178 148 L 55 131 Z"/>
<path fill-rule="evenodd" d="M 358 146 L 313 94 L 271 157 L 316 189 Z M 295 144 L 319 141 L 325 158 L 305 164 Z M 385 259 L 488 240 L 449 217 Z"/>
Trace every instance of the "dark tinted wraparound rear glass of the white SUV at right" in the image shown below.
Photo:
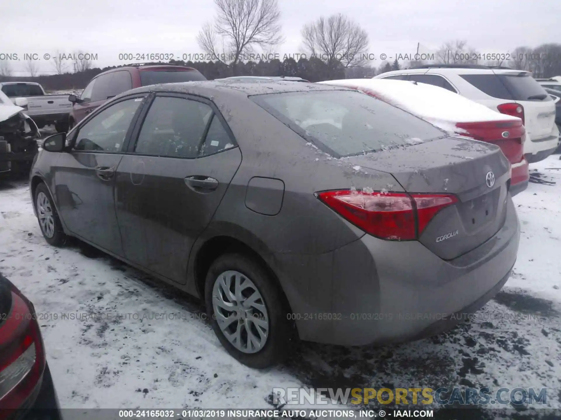
<path fill-rule="evenodd" d="M 489 96 L 510 101 L 550 101 L 540 83 L 530 73 L 461 74 L 471 85 Z"/>

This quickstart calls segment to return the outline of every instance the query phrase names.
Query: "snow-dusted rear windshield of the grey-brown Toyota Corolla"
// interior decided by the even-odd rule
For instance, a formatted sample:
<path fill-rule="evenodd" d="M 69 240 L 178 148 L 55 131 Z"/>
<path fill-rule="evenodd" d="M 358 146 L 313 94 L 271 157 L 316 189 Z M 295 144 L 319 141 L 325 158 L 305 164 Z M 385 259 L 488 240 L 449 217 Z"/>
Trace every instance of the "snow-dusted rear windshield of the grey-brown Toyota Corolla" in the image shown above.
<path fill-rule="evenodd" d="M 406 111 L 351 90 L 256 95 L 251 99 L 334 157 L 446 136 L 442 130 Z"/>

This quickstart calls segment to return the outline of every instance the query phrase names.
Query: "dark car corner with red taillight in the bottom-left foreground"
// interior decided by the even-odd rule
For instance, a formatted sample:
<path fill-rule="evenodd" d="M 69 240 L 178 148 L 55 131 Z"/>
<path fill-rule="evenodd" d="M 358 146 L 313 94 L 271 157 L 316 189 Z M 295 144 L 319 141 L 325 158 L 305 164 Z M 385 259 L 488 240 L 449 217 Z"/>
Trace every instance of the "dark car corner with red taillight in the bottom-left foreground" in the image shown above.
<path fill-rule="evenodd" d="M 59 420 L 33 304 L 0 274 L 0 420 Z"/>

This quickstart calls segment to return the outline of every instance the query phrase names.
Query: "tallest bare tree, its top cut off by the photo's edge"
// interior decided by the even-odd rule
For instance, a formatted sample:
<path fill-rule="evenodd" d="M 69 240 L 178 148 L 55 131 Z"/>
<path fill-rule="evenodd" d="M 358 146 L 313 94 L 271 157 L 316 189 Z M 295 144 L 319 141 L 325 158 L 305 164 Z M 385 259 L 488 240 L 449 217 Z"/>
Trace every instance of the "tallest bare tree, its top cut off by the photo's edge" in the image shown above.
<path fill-rule="evenodd" d="M 284 41 L 277 0 L 214 0 L 214 4 L 218 15 L 197 35 L 197 43 L 212 60 L 237 64 L 257 46 L 265 50 Z"/>

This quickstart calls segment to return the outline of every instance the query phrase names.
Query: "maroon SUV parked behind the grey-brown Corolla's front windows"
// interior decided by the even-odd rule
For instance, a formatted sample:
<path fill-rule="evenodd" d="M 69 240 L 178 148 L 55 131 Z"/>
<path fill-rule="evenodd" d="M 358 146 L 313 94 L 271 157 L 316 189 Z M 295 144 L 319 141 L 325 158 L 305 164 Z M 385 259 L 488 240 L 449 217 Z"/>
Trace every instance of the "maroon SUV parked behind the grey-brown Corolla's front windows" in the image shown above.
<path fill-rule="evenodd" d="M 95 76 L 80 97 L 68 96 L 68 100 L 73 104 L 68 117 L 68 127 L 74 127 L 105 101 L 129 89 L 158 83 L 200 80 L 206 80 L 206 78 L 196 69 L 173 64 L 131 64 L 126 67 L 113 68 Z"/>

